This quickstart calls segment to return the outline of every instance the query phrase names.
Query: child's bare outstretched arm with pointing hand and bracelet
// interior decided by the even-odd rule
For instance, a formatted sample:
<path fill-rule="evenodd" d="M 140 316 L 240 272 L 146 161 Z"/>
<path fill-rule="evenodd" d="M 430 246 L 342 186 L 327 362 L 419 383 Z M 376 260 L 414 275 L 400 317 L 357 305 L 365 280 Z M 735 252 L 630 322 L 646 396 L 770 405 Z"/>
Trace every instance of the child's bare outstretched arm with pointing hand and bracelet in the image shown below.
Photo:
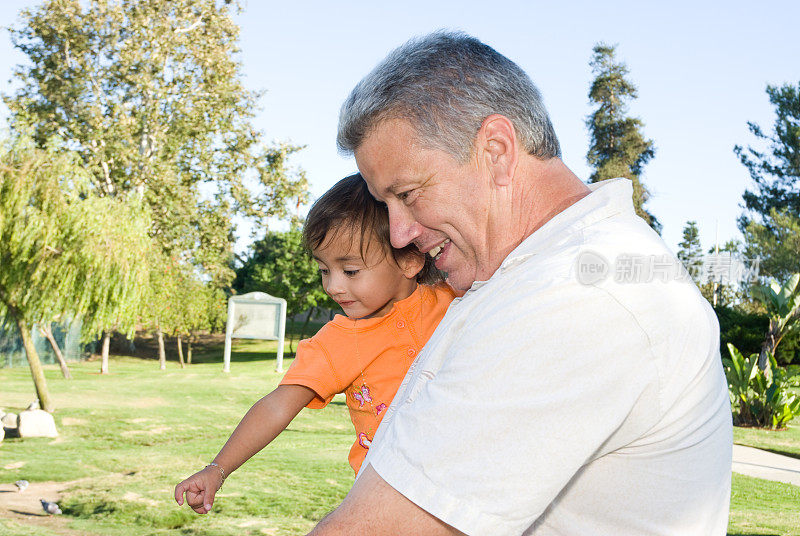
<path fill-rule="evenodd" d="M 214 458 L 218 467 L 209 465 L 175 487 L 175 500 L 186 503 L 198 514 L 206 514 L 214 504 L 214 495 L 227 477 L 258 451 L 269 445 L 292 422 L 300 410 L 316 396 L 302 385 L 279 385 L 253 404 L 231 437 Z"/>

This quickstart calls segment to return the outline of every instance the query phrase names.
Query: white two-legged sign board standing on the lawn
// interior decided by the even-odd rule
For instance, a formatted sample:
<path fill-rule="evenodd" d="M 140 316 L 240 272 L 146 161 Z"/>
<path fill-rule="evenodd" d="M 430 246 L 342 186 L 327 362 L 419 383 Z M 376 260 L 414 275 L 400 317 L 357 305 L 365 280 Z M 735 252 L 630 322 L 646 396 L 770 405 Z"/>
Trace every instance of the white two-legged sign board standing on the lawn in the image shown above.
<path fill-rule="evenodd" d="M 223 372 L 231 370 L 231 339 L 278 341 L 277 371 L 283 372 L 283 339 L 286 331 L 286 300 L 264 292 L 232 296 L 228 300 Z"/>

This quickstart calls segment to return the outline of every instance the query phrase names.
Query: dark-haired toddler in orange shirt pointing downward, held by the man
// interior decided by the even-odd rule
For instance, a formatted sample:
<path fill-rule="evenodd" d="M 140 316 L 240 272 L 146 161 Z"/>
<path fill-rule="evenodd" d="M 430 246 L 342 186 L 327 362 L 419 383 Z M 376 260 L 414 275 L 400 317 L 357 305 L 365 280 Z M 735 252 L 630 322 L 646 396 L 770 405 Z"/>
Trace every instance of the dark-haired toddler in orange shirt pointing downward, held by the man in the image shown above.
<path fill-rule="evenodd" d="M 303 230 L 322 286 L 344 311 L 312 338 L 277 389 L 242 418 L 214 461 L 175 488 L 175 500 L 207 513 L 225 478 L 267 446 L 303 407 L 323 408 L 345 393 L 358 473 L 408 368 L 455 297 L 415 246 L 392 248 L 386 207 L 359 174 L 339 181 L 311 207 Z"/>

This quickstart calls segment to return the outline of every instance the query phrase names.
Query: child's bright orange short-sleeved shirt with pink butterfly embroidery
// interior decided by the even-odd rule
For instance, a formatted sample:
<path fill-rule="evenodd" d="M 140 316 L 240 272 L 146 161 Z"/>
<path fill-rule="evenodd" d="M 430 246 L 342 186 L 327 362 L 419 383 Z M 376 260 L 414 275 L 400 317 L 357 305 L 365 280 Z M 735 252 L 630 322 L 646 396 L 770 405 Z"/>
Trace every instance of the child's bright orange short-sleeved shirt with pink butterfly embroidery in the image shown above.
<path fill-rule="evenodd" d="M 300 341 L 281 385 L 312 389 L 317 396 L 309 408 L 324 408 L 333 395 L 346 394 L 356 429 L 348 459 L 356 473 L 408 368 L 453 298 L 447 285 L 419 285 L 385 316 L 351 320 L 336 315 L 316 335 Z"/>

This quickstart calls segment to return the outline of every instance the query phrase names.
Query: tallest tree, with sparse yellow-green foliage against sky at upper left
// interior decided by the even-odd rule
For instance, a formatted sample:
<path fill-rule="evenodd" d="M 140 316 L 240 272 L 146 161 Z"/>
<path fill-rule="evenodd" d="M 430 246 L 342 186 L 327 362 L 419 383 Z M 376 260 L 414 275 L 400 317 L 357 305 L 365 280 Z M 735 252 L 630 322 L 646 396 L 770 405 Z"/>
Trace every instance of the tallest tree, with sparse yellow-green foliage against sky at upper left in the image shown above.
<path fill-rule="evenodd" d="M 101 196 L 136 192 L 157 255 L 219 288 L 233 279 L 233 218 L 266 226 L 304 200 L 306 180 L 252 124 L 238 2 L 46 0 L 11 30 L 28 63 L 5 102 L 40 145 L 57 134 Z M 156 253 L 154 253 L 156 255 Z M 108 326 L 112 327 L 112 326 Z"/>

